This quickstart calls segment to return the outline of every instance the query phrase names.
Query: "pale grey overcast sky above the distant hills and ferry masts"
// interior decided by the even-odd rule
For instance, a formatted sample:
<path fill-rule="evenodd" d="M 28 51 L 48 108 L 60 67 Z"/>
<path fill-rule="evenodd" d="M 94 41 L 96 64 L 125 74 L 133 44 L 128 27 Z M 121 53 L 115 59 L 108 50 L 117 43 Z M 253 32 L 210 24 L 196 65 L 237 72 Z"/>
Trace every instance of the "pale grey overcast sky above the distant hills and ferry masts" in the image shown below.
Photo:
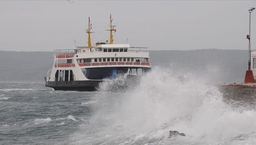
<path fill-rule="evenodd" d="M 52 51 L 109 40 L 150 50 L 248 49 L 256 1 L 0 1 L 0 50 Z M 251 17 L 256 49 L 256 10 Z"/>

